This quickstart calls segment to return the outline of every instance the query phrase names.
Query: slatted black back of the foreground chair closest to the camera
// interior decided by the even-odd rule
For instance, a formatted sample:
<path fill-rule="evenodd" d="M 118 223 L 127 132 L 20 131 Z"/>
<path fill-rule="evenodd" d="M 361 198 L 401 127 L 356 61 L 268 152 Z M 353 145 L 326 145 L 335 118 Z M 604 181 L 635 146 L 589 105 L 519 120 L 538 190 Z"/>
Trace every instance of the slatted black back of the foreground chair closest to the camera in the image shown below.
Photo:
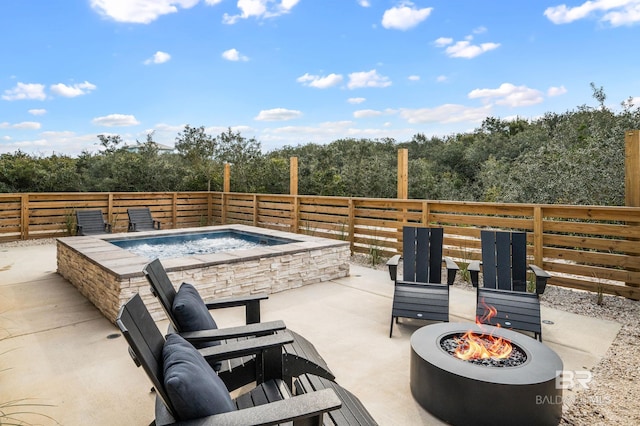
<path fill-rule="evenodd" d="M 164 336 L 158 330 L 139 294 L 134 295 L 118 312 L 116 325 L 129 344 L 136 365 L 142 366 L 165 406 L 175 413 L 164 388 L 162 348 Z"/>

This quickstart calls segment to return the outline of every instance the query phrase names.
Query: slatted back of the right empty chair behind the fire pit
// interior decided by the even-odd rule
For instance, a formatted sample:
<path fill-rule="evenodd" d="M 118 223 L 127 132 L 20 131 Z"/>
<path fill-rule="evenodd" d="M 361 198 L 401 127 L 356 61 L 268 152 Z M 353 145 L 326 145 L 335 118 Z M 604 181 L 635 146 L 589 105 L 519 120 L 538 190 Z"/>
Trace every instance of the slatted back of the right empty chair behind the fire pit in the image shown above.
<path fill-rule="evenodd" d="M 483 230 L 482 275 L 486 288 L 526 291 L 527 234 Z"/>

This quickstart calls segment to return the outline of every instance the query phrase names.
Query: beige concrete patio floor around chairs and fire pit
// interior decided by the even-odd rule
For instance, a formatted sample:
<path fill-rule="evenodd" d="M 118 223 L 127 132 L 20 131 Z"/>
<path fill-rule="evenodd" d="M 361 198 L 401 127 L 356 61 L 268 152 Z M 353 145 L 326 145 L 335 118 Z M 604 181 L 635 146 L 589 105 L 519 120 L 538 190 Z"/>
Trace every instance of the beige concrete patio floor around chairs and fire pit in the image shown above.
<path fill-rule="evenodd" d="M 409 389 L 411 334 L 424 323 L 404 320 L 389 339 L 393 284 L 385 271 L 352 266 L 347 278 L 272 294 L 263 321 L 282 319 L 313 342 L 336 375 L 381 425 L 440 425 Z M 475 294 L 455 286 L 451 321 L 472 322 Z M 606 353 L 618 323 L 542 308 L 544 343 L 565 370 L 591 369 Z M 243 312 L 216 314 L 219 326 L 239 325 Z M 166 323 L 159 324 L 166 329 Z M 114 336 L 116 336 L 114 338 Z M 154 394 L 127 344 L 56 273 L 54 244 L 0 245 L 0 412 L 9 401 L 32 424 L 148 425 Z M 565 391 L 565 399 L 570 391 Z M 0 417 L 0 423 L 2 418 Z"/>

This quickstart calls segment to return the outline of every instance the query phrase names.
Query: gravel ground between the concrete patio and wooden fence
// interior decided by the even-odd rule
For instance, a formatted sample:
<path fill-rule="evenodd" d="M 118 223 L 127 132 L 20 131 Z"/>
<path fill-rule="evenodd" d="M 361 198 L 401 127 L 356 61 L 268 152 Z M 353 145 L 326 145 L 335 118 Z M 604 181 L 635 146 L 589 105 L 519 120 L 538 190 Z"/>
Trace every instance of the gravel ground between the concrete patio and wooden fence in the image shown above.
<path fill-rule="evenodd" d="M 54 243 L 54 239 L 13 241 L 0 244 L 0 248 Z M 368 256 L 355 255 L 352 262 L 371 267 Z M 384 263 L 376 268 L 386 270 Z M 460 277 L 455 285 L 471 289 Z M 640 425 L 640 302 L 604 295 L 598 304 L 594 293 L 548 286 L 541 303 L 622 324 L 606 355 L 594 367 L 589 389 L 565 399 L 560 424 Z"/>

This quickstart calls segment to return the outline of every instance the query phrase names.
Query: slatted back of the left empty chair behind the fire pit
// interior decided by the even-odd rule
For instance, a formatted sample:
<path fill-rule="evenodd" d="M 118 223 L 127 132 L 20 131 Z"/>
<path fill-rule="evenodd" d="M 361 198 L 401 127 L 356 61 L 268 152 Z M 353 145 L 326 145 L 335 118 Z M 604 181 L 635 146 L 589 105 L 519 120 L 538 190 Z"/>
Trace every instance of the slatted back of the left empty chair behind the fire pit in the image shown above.
<path fill-rule="evenodd" d="M 442 283 L 442 228 L 405 226 L 402 230 L 404 281 Z"/>

